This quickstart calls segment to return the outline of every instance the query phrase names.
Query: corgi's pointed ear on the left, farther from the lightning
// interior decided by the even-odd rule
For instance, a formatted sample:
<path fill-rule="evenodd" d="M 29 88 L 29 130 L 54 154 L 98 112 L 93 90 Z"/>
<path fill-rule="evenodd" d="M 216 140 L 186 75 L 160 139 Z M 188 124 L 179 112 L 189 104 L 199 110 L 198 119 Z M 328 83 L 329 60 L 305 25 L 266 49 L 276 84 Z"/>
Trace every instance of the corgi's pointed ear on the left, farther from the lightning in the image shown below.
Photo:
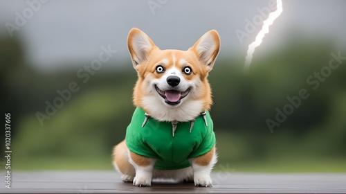
<path fill-rule="evenodd" d="M 150 51 L 156 46 L 142 30 L 132 28 L 127 37 L 127 47 L 129 48 L 134 68 L 138 69 L 140 64 L 147 60 Z"/>

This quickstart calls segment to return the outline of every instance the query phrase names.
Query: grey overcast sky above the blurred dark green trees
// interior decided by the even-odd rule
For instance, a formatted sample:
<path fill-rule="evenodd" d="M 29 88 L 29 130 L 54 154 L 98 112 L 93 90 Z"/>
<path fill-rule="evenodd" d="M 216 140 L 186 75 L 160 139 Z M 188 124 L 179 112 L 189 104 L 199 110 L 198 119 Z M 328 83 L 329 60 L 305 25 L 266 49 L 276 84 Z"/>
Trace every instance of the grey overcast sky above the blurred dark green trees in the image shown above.
<path fill-rule="evenodd" d="M 43 1 L 43 0 L 42 0 Z M 9 36 L 7 25 L 18 15 L 26 21 L 14 30 L 24 41 L 26 57 L 37 69 L 57 69 L 58 64 L 88 62 L 98 58 L 101 46 L 117 50 L 113 61 L 129 60 L 127 33 L 140 28 L 162 48 L 187 49 L 208 30 L 221 36 L 220 58 L 246 55 L 262 24 L 261 11 L 271 1 L 0 1 L 0 34 Z M 34 4 L 30 6 L 28 2 Z M 40 2 L 39 4 L 37 2 Z M 152 7 L 150 7 L 152 6 Z M 255 51 L 280 48 L 292 35 L 328 37 L 336 46 L 346 45 L 346 1 L 283 1 L 283 12 L 269 28 L 263 44 Z M 262 13 L 266 15 L 266 13 Z M 20 20 L 20 19 L 19 19 Z M 252 24 L 247 24 L 247 20 Z M 246 25 L 255 29 L 246 30 Z M 242 41 L 236 32 L 247 33 Z M 254 56 L 255 58 L 256 56 Z M 116 65 L 121 66 L 118 62 Z"/>

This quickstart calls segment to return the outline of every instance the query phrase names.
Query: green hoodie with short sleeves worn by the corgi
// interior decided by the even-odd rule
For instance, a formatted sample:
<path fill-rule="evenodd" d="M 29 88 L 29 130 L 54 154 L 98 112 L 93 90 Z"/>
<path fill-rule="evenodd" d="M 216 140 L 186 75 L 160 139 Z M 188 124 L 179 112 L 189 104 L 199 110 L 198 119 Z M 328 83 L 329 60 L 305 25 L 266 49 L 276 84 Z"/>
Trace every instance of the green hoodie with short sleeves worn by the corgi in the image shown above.
<path fill-rule="evenodd" d="M 215 134 L 212 130 L 212 119 L 206 113 L 208 126 L 203 116 L 198 116 L 190 132 L 190 121 L 178 123 L 174 136 L 172 123 L 156 121 L 137 107 L 126 131 L 126 145 L 138 155 L 154 158 L 154 168 L 175 170 L 191 166 L 188 159 L 199 157 L 209 152 L 215 145 Z"/>

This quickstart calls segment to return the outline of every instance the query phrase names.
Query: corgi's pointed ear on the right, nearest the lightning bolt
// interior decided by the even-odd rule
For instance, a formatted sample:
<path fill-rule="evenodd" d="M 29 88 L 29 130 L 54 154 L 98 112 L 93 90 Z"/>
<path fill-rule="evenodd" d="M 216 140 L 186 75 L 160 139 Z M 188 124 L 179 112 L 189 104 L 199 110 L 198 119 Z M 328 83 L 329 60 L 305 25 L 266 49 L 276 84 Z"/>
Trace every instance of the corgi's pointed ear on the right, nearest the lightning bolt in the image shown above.
<path fill-rule="evenodd" d="M 220 50 L 220 37 L 216 30 L 205 33 L 189 50 L 194 51 L 199 61 L 206 66 L 208 71 L 212 69 L 217 54 Z"/>

